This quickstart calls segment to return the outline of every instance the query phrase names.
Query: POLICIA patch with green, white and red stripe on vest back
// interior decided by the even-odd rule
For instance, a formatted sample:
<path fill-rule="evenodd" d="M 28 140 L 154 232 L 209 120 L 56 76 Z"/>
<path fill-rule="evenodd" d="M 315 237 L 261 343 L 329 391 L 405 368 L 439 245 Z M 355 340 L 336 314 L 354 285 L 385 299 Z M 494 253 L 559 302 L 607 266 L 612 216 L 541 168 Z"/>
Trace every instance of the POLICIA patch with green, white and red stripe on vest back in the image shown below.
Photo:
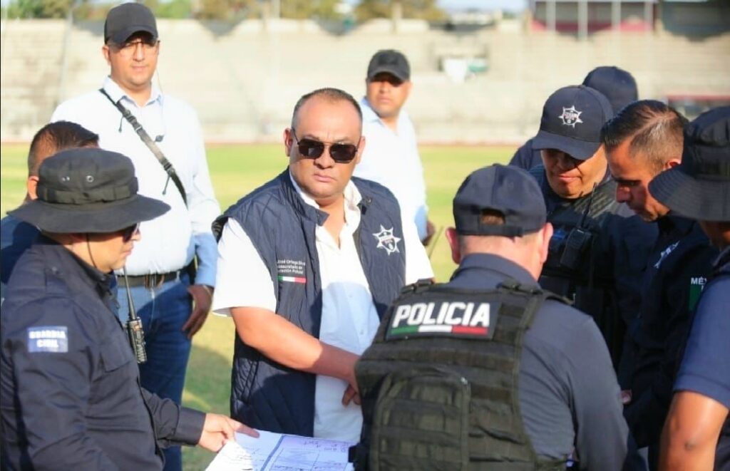
<path fill-rule="evenodd" d="M 386 339 L 459 337 L 491 339 L 499 303 L 463 301 L 398 305 Z"/>

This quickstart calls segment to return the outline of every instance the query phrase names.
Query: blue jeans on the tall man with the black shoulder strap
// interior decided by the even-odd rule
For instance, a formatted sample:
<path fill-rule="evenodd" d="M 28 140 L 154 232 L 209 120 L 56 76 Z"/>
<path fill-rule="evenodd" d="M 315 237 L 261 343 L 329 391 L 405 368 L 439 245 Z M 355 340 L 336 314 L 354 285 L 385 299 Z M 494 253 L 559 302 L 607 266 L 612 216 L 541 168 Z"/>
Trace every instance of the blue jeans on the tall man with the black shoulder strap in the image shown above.
<path fill-rule="evenodd" d="M 191 340 L 183 332 L 183 324 L 192 312 L 192 298 L 188 294 L 190 278 L 167 281 L 159 287 L 131 287 L 132 301 L 145 329 L 147 362 L 139 365 L 139 380 L 147 391 L 180 404 L 185 386 Z M 118 278 L 118 316 L 123 325 L 129 319 L 126 286 Z M 183 459 L 179 446 L 166 448 L 165 470 L 180 471 Z"/>

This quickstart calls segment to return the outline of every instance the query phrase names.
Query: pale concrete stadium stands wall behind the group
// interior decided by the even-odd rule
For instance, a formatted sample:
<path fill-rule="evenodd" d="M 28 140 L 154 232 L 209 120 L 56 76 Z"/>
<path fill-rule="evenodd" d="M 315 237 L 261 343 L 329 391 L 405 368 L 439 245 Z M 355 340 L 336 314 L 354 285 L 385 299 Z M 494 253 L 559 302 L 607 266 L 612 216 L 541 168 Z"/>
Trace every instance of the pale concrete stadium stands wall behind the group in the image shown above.
<path fill-rule="evenodd" d="M 680 36 L 660 29 L 599 33 L 580 42 L 516 26 L 456 35 L 418 21 L 393 31 L 384 21 L 332 35 L 312 21 L 250 20 L 226 28 L 160 20 L 155 80 L 164 93 L 196 107 L 209 141 L 278 140 L 296 99 L 318 87 L 361 96 L 370 56 L 386 47 L 410 58 L 414 86 L 407 108 L 424 142 L 526 139 L 537 131 L 545 98 L 599 65 L 631 71 L 642 98 L 730 95 L 730 34 Z M 101 30 L 101 23 L 77 24 L 66 36 L 63 21 L 2 24 L 1 139 L 28 139 L 59 101 L 101 85 L 108 73 Z M 488 58 L 488 71 L 454 82 L 439 65 L 445 54 L 460 51 L 465 58 Z"/>

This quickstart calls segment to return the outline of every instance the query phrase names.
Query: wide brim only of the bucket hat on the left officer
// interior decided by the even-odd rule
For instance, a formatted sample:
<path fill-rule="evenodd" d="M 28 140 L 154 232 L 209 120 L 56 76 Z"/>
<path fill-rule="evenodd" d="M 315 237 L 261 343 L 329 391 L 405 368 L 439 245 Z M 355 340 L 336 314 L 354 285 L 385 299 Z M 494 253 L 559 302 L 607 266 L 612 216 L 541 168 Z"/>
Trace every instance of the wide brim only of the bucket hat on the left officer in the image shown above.
<path fill-rule="evenodd" d="M 51 233 L 113 233 L 137 222 L 155 219 L 169 209 L 167 203 L 134 195 L 124 201 L 75 208 L 69 204 L 34 200 L 8 214 Z"/>

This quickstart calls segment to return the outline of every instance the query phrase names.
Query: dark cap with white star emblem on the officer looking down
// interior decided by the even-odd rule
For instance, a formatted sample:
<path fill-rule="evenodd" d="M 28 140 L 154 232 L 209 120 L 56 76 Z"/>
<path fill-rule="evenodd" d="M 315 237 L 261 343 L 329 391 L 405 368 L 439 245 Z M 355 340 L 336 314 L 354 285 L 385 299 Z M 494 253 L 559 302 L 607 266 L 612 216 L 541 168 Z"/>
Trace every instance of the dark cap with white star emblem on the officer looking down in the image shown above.
<path fill-rule="evenodd" d="M 603 93 L 585 85 L 563 87 L 542 106 L 532 148 L 558 149 L 587 160 L 601 147 L 601 128 L 612 117 L 613 109 Z"/>

